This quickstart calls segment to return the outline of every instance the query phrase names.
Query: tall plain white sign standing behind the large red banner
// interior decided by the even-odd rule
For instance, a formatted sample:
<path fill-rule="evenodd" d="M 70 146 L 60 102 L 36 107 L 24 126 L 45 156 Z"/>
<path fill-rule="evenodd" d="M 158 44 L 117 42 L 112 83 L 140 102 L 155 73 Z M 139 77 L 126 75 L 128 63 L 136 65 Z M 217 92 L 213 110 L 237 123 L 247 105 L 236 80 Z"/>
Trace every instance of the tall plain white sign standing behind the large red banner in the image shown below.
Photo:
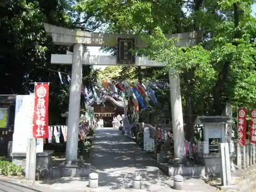
<path fill-rule="evenodd" d="M 13 153 L 26 153 L 28 139 L 32 136 L 34 94 L 17 95 L 15 105 Z M 36 153 L 43 151 L 43 140 L 37 139 Z"/>

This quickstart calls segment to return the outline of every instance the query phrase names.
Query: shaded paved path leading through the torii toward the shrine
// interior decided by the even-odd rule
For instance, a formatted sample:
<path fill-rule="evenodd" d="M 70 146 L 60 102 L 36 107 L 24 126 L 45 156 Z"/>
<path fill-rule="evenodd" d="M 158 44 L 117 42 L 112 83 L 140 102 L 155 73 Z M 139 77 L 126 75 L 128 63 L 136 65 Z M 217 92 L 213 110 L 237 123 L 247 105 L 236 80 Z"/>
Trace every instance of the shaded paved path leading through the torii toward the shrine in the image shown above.
<path fill-rule="evenodd" d="M 173 180 L 157 167 L 150 154 L 120 131 L 97 130 L 92 149 L 92 172 L 99 174 L 99 186 L 105 189 L 129 189 L 132 178 L 140 173 L 144 190 L 172 190 Z M 195 178 L 185 180 L 186 191 L 216 191 L 204 181 Z"/>

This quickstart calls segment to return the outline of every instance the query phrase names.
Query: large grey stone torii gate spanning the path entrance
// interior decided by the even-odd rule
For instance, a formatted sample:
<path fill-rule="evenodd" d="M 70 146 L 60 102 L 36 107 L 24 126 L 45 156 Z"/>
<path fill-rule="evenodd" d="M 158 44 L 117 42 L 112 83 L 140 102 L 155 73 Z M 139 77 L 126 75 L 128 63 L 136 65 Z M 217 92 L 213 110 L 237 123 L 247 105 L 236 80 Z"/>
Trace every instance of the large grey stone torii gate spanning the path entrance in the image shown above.
<path fill-rule="evenodd" d="M 123 55 L 113 56 L 97 56 L 90 53 L 83 54 L 83 45 L 95 47 L 117 47 L 121 41 L 130 44 L 131 48 L 146 47 L 139 35 L 125 34 L 106 34 L 96 32 L 86 32 L 76 29 L 67 29 L 49 24 L 44 24 L 47 35 L 51 36 L 54 44 L 74 46 L 73 54 L 58 55 L 52 54 L 51 62 L 53 64 L 72 64 L 70 97 L 69 97 L 69 115 L 68 115 L 68 137 L 66 148 L 66 163 L 77 163 L 77 145 L 78 145 L 78 125 L 80 111 L 80 89 L 82 77 L 82 65 L 130 65 L 130 66 L 166 66 L 167 62 L 155 62 L 148 60 L 146 57 L 136 57 L 134 61 L 125 60 Z M 179 38 L 175 41 L 178 47 L 189 47 L 196 45 L 202 38 L 201 31 L 193 31 L 187 33 L 165 35 L 166 38 Z M 121 40 L 118 40 L 121 37 Z M 118 40 L 118 44 L 117 44 Z M 127 45 L 127 44 L 126 44 Z M 122 45 L 124 49 L 124 45 Z M 130 49 L 131 49 L 130 48 Z M 129 51 L 129 49 L 128 49 Z M 127 49 L 126 49 L 127 52 Z M 126 53 L 127 54 L 127 53 Z M 130 55 L 131 56 L 131 55 Z M 122 59 L 120 59 L 122 57 Z M 130 57 L 132 58 L 132 56 Z M 117 63 L 118 62 L 118 63 Z M 173 69 L 169 69 L 169 76 L 173 73 Z M 176 77 L 169 77 L 170 83 L 170 101 L 172 105 L 172 120 L 174 134 L 174 155 L 175 158 L 183 158 L 185 156 L 184 149 L 184 130 L 182 116 L 182 102 L 180 94 L 179 74 Z"/>

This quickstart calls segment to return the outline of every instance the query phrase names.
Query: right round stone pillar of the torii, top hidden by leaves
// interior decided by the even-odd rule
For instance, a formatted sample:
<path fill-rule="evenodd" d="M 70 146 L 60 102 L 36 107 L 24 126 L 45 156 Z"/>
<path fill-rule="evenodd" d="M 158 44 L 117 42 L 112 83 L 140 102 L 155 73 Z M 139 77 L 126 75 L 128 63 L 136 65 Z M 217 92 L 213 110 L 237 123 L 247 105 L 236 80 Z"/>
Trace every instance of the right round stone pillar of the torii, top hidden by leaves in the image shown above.
<path fill-rule="evenodd" d="M 175 70 L 173 68 L 169 69 L 170 105 L 172 108 L 174 134 L 174 157 L 182 159 L 185 157 L 185 144 L 182 101 L 180 93 L 180 76 L 178 73 L 173 74 L 174 71 Z"/>

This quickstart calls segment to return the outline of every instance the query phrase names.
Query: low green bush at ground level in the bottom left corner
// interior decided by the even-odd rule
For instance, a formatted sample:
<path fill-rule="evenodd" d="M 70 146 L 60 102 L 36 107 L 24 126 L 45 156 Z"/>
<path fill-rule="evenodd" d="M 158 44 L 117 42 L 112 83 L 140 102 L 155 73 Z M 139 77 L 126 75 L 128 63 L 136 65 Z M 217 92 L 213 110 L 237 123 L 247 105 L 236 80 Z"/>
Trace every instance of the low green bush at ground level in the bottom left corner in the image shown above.
<path fill-rule="evenodd" d="M 5 158 L 0 157 L 0 175 L 4 176 L 19 176 L 22 175 L 23 168 L 13 164 Z"/>

